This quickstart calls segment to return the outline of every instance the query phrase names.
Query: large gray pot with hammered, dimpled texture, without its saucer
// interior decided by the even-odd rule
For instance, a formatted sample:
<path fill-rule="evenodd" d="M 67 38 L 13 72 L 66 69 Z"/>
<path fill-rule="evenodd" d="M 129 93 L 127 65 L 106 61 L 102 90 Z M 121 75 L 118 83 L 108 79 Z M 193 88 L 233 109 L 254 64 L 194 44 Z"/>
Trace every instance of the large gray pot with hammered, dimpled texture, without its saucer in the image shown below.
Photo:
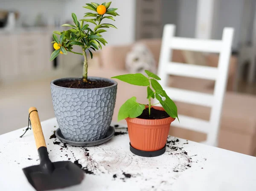
<path fill-rule="evenodd" d="M 71 141 L 96 141 L 105 138 L 116 103 L 117 82 L 107 78 L 88 79 L 111 81 L 110 87 L 74 89 L 56 86 L 51 82 L 52 103 L 61 133 Z"/>

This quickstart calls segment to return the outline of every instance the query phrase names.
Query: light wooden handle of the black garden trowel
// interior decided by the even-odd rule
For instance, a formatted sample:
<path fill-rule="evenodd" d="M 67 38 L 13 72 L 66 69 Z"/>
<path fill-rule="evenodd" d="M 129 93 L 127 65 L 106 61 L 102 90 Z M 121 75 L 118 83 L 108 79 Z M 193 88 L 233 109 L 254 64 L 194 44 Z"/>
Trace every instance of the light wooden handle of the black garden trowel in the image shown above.
<path fill-rule="evenodd" d="M 35 110 L 35 111 L 33 111 L 33 110 Z M 31 125 L 32 125 L 32 130 L 33 130 L 34 137 L 35 137 L 35 145 L 36 145 L 36 148 L 38 149 L 40 147 L 46 147 L 46 143 L 45 143 L 40 119 L 38 116 L 38 112 L 36 110 L 37 109 L 35 107 L 30 107 L 29 113 L 30 112 L 31 113 L 29 116 L 30 116 L 30 121 L 31 121 Z"/>

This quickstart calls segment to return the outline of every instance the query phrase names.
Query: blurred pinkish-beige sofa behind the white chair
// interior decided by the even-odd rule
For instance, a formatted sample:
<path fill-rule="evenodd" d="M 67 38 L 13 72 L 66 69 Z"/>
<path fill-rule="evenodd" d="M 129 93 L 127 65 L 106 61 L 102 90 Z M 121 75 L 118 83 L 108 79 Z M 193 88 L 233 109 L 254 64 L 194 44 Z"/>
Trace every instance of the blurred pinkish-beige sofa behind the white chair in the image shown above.
<path fill-rule="evenodd" d="M 161 39 L 142 40 L 154 55 L 156 61 L 159 60 Z M 111 78 L 115 75 L 127 74 L 125 69 L 125 58 L 133 45 L 128 46 L 106 46 L 100 52 L 99 68 L 90 69 L 90 76 L 102 76 Z M 201 58 L 192 58 L 192 54 L 180 50 L 173 51 L 172 61 L 181 63 L 191 63 L 196 60 L 203 61 L 204 65 L 216 67 L 218 65 L 218 55 L 206 54 Z M 256 149 L 256 97 L 233 92 L 233 82 L 236 73 L 236 57 L 231 56 L 230 68 L 227 82 L 227 93 L 224 98 L 221 127 L 219 131 L 218 147 L 233 150 L 239 153 L 255 155 Z M 205 93 L 213 93 L 214 81 L 197 78 L 185 78 L 180 76 L 170 76 L 169 86 L 195 90 Z M 114 109 L 113 120 L 117 121 L 117 114 L 120 106 L 132 96 L 137 97 L 137 101 L 146 103 L 146 87 L 134 86 L 118 81 L 116 107 Z M 172 98 L 172 96 L 170 95 Z M 209 120 L 210 108 L 198 105 L 175 102 L 178 113 L 193 116 L 200 119 Z M 122 121 L 122 123 L 125 123 Z M 170 135 L 183 139 L 201 142 L 206 139 L 203 133 L 181 129 L 179 127 L 170 128 Z"/>

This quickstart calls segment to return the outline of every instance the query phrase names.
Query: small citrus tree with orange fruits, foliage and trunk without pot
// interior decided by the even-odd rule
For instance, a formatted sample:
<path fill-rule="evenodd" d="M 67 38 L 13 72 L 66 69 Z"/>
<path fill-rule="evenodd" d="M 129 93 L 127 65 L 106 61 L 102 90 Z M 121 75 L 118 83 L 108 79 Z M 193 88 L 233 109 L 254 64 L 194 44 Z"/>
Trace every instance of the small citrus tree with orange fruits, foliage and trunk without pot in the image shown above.
<path fill-rule="evenodd" d="M 52 52 L 50 61 L 55 59 L 59 54 L 67 55 L 67 52 L 72 52 L 74 54 L 79 54 L 84 56 L 84 67 L 83 67 L 83 81 L 87 82 L 87 55 L 86 50 L 90 52 L 90 57 L 93 58 L 92 51 L 96 51 L 99 48 L 102 49 L 102 45 L 105 46 L 108 43 L 104 38 L 102 38 L 101 33 L 107 32 L 102 28 L 113 27 L 116 28 L 113 24 L 103 23 L 103 20 L 111 19 L 116 17 L 116 8 L 110 8 L 111 2 L 102 3 L 86 3 L 87 6 L 84 6 L 86 9 L 90 9 L 93 12 L 85 13 L 84 17 L 89 17 L 87 19 L 77 20 L 76 14 L 72 13 L 72 18 L 74 24 L 64 24 L 62 26 L 71 27 L 66 31 L 54 31 L 52 38 L 55 51 Z M 107 15 L 106 15 L 107 14 Z M 106 15 L 106 16 L 105 16 Z M 85 23 L 84 23 L 85 22 Z M 95 25 L 94 29 L 89 27 L 88 23 L 93 23 Z M 117 28 L 116 28 L 117 29 Z M 57 35 L 60 35 L 58 38 Z M 73 45 L 80 46 L 82 53 L 73 52 Z"/>

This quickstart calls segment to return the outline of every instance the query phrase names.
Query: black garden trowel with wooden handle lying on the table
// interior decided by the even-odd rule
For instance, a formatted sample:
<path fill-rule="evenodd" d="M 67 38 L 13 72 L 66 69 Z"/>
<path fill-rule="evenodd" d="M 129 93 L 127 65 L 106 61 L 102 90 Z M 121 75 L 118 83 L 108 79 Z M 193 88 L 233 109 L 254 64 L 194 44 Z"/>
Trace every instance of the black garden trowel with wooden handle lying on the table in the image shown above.
<path fill-rule="evenodd" d="M 70 161 L 50 161 L 38 112 L 35 107 L 29 108 L 29 116 L 40 158 L 40 165 L 23 168 L 29 183 L 37 191 L 53 190 L 81 183 L 84 179 L 84 172 L 77 165 Z"/>

